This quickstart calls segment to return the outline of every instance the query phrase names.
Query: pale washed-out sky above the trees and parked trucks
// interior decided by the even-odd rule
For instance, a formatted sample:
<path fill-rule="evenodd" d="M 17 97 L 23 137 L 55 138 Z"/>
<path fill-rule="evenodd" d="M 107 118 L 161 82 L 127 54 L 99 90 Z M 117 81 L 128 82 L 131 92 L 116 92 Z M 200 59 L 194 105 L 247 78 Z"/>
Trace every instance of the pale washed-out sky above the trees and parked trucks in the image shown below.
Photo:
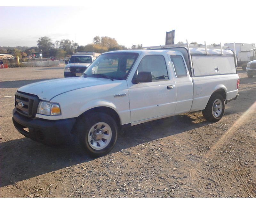
<path fill-rule="evenodd" d="M 256 43 L 253 0 L 20 2 L 12 5 L 23 7 L 1 3 L 0 46 L 32 47 L 42 36 L 86 45 L 99 35 L 126 47 L 148 47 L 164 45 L 165 33 L 171 30 L 175 43 Z"/>

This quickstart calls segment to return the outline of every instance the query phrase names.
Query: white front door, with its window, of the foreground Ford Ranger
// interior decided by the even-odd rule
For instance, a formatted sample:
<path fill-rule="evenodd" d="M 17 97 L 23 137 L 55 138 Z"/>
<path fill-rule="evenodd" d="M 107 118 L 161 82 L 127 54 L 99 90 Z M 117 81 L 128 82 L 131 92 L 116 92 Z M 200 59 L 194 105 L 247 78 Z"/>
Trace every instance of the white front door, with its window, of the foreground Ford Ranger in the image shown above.
<path fill-rule="evenodd" d="M 170 64 L 166 64 L 166 62 L 169 62 L 167 55 L 145 55 L 141 59 L 133 79 L 140 72 L 151 72 L 152 82 L 138 84 L 128 82 L 131 122 L 174 113 L 176 86 L 173 76 L 167 70 L 167 67 L 170 68 Z"/>

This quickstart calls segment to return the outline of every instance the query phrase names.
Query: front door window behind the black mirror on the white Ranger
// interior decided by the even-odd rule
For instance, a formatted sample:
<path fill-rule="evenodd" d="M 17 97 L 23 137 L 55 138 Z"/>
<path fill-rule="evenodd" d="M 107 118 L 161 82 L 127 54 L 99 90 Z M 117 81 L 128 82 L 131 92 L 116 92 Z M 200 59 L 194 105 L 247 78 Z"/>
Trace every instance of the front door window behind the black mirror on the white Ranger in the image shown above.
<path fill-rule="evenodd" d="M 162 55 L 147 55 L 143 57 L 134 78 L 136 78 L 140 72 L 151 72 L 153 82 L 169 79 L 164 56 Z"/>

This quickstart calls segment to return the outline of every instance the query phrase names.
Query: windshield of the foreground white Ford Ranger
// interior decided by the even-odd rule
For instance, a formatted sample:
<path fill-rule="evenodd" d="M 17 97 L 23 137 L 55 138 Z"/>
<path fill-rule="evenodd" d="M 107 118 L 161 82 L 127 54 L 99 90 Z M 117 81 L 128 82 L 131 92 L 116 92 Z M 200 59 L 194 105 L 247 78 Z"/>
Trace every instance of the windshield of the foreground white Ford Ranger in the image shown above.
<path fill-rule="evenodd" d="M 86 77 L 106 78 L 126 80 L 138 53 L 109 53 L 100 55 L 85 70 Z"/>

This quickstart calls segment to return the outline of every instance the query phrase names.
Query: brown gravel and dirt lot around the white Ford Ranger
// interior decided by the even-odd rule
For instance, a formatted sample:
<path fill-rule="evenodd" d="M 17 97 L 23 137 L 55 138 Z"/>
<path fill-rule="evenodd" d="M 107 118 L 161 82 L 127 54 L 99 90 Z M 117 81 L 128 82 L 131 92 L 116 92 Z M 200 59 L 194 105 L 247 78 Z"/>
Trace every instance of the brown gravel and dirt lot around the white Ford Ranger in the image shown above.
<path fill-rule="evenodd" d="M 201 112 L 126 128 L 106 156 L 45 146 L 12 124 L 18 87 L 63 68 L 0 69 L 1 197 L 256 197 L 256 77 L 241 69 L 236 101 L 217 123 Z"/>

